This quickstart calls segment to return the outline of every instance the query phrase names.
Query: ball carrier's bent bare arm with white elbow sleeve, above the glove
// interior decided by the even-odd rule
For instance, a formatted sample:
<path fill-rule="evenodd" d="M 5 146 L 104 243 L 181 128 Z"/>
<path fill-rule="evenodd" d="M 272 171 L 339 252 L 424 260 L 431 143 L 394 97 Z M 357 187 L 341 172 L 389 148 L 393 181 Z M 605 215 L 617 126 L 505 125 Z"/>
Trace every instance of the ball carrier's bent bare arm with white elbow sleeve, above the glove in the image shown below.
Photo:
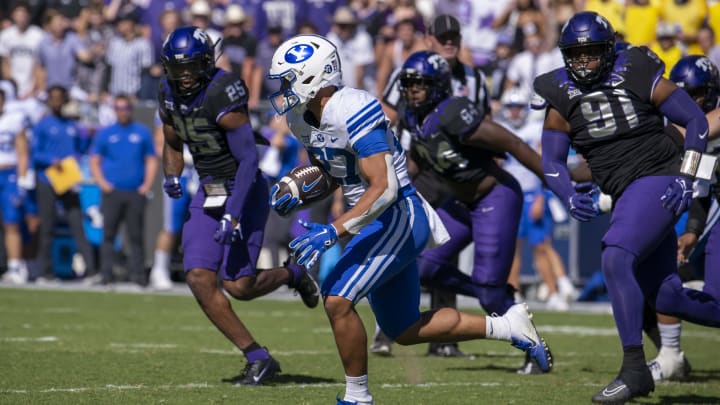
<path fill-rule="evenodd" d="M 357 204 L 333 222 L 338 236 L 357 234 L 397 198 L 398 180 L 390 153 L 380 152 L 360 158 L 358 164 L 369 185 Z"/>

